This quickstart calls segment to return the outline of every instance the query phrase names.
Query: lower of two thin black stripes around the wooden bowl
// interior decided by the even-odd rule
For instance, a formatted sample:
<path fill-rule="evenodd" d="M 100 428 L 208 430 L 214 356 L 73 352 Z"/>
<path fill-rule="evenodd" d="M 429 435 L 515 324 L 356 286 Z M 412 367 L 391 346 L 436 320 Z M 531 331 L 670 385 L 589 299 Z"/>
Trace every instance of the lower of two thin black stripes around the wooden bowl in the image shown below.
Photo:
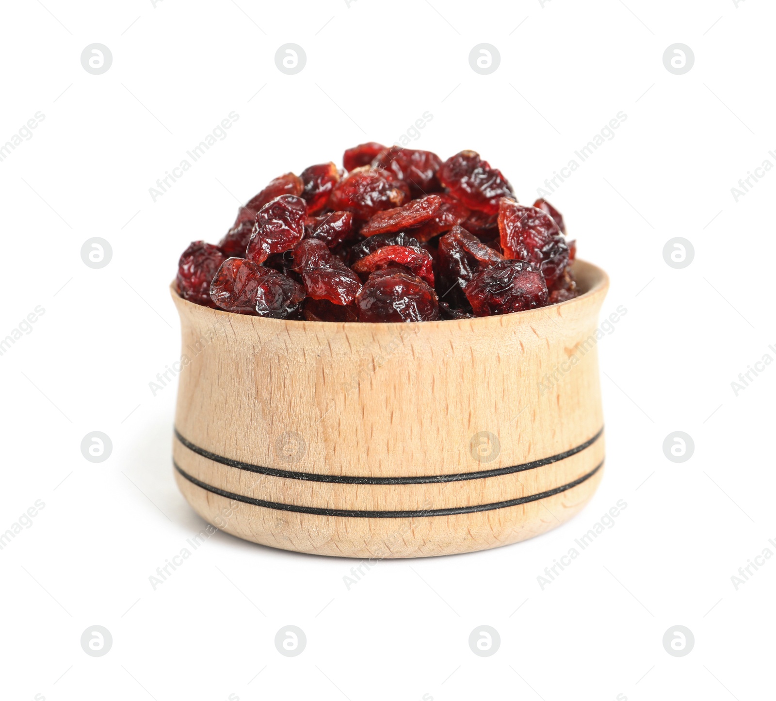
<path fill-rule="evenodd" d="M 213 494 L 227 499 L 233 499 L 234 501 L 243 501 L 245 504 L 252 504 L 254 506 L 263 506 L 264 508 L 275 508 L 278 511 L 293 511 L 300 514 L 313 514 L 317 516 L 348 516 L 355 519 L 407 519 L 407 518 L 423 518 L 426 516 L 454 516 L 457 514 L 472 514 L 480 511 L 494 511 L 497 508 L 508 508 L 510 506 L 518 506 L 521 504 L 528 504 L 530 501 L 539 501 L 539 499 L 546 499 L 553 495 L 560 494 L 562 491 L 576 487 L 577 484 L 582 484 L 584 481 L 589 480 L 594 474 L 601 469 L 604 461 L 598 463 L 598 467 L 587 474 L 582 475 L 573 482 L 563 484 L 562 487 L 556 487 L 549 491 L 542 491 L 539 494 L 530 495 L 528 497 L 518 497 L 517 499 L 508 499 L 508 501 L 495 501 L 492 504 L 478 504 L 476 506 L 457 506 L 452 508 L 428 508 L 421 511 L 354 511 L 349 508 L 320 508 L 317 506 L 297 506 L 294 504 L 281 504 L 279 501 L 265 501 L 264 499 L 255 499 L 253 497 L 246 497 L 244 495 L 234 494 L 230 491 L 224 491 L 217 487 L 213 487 L 211 484 L 198 480 L 196 477 L 192 477 L 190 474 L 184 472 L 178 463 L 173 460 L 175 470 L 182 477 L 185 477 L 192 484 L 196 484 L 197 487 L 201 487 L 207 491 L 213 492 Z"/>

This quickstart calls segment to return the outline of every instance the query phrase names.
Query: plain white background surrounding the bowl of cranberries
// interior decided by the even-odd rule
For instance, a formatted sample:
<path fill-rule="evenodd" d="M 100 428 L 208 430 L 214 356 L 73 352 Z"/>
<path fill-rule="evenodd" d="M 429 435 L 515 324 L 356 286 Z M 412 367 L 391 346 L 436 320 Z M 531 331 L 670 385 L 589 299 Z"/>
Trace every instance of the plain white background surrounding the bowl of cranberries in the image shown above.
<path fill-rule="evenodd" d="M 773 698 L 776 558 L 737 591 L 731 576 L 776 554 L 776 366 L 738 396 L 730 383 L 776 358 L 776 173 L 738 202 L 730 189 L 776 165 L 776 11 L 544 5 L 4 5 L 0 143 L 45 119 L 0 162 L 0 337 L 45 314 L 0 356 L 0 531 L 45 508 L 0 551 L 3 699 Z M 102 75 L 81 66 L 95 42 L 113 54 Z M 298 75 L 275 67 L 287 42 L 306 51 Z M 491 75 L 469 67 L 483 42 L 501 54 Z M 685 75 L 663 66 L 677 42 L 695 54 Z M 149 187 L 233 110 L 227 138 L 154 203 Z M 217 533 L 154 591 L 203 526 L 172 477 L 175 387 L 149 389 L 179 357 L 168 284 L 189 241 L 217 242 L 276 175 L 393 143 L 426 111 L 414 147 L 480 151 L 530 203 L 621 110 L 549 197 L 611 275 L 603 314 L 627 309 L 599 344 L 607 471 L 584 512 L 511 547 L 380 562 L 349 591 L 352 560 Z M 95 236 L 113 247 L 99 270 L 80 255 Z M 663 260 L 676 236 L 695 248 L 678 270 Z M 695 441 L 681 464 L 662 449 L 677 430 Z M 113 441 L 104 463 L 81 456 L 92 431 Z M 618 499 L 615 526 L 542 591 Z M 113 635 L 101 658 L 80 645 L 95 624 Z M 299 657 L 275 650 L 286 624 L 307 634 Z M 489 658 L 467 642 L 482 624 L 501 635 Z M 677 624 L 695 635 L 683 658 L 662 644 Z"/>

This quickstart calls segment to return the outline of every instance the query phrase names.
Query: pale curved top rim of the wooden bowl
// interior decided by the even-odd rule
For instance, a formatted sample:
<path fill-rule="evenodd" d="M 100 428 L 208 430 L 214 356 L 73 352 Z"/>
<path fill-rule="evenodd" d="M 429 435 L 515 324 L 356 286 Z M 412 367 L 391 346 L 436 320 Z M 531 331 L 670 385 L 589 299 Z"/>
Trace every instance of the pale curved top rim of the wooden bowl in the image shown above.
<path fill-rule="evenodd" d="M 573 262 L 573 265 L 577 265 L 577 263 L 581 263 L 584 268 L 586 268 L 591 276 L 594 278 L 594 283 L 591 285 L 591 287 L 586 290 L 584 293 L 580 294 L 579 297 L 574 297 L 571 300 L 566 300 L 564 302 L 556 302 L 556 304 L 548 304 L 546 307 L 536 307 L 535 309 L 526 309 L 524 311 L 514 311 L 511 312 L 511 314 L 494 314 L 492 316 L 488 317 L 475 317 L 473 319 L 438 319 L 436 321 L 307 321 L 307 319 L 272 319 L 268 317 L 260 317 L 260 316 L 254 316 L 253 314 L 237 314 L 234 311 L 226 311 L 225 309 L 217 309 L 214 307 L 205 307 L 203 304 L 195 304 L 194 302 L 191 302 L 189 300 L 184 299 L 183 297 L 178 294 L 178 286 L 175 282 L 175 279 L 172 280 L 170 283 L 170 293 L 172 295 L 173 300 L 175 301 L 175 304 L 182 304 L 184 307 L 196 307 L 197 310 L 207 310 L 216 313 L 218 316 L 225 315 L 226 318 L 229 318 L 230 320 L 233 320 L 235 317 L 244 318 L 251 323 L 255 321 L 261 321 L 265 324 L 293 324 L 292 328 L 303 328 L 305 324 L 311 326 L 312 328 L 340 328 L 345 327 L 348 329 L 352 328 L 362 328 L 364 330 L 367 330 L 369 328 L 372 329 L 385 329 L 385 328 L 438 328 L 439 324 L 478 324 L 479 326 L 484 326 L 484 324 L 487 323 L 494 323 L 494 320 L 501 320 L 499 323 L 503 324 L 503 320 L 519 320 L 519 319 L 528 319 L 533 314 L 539 314 L 543 311 L 546 312 L 548 309 L 568 309 L 571 305 L 578 305 L 581 304 L 587 300 L 590 300 L 592 297 L 595 297 L 597 295 L 600 295 L 601 293 L 605 294 L 606 291 L 609 288 L 609 276 L 607 272 L 599 268 L 598 265 L 595 265 L 594 263 L 587 262 L 583 259 L 575 259 Z M 562 314 L 559 314 L 559 316 L 562 316 Z M 490 320 L 490 321 L 489 321 Z M 444 327 L 443 327 L 444 328 Z"/>

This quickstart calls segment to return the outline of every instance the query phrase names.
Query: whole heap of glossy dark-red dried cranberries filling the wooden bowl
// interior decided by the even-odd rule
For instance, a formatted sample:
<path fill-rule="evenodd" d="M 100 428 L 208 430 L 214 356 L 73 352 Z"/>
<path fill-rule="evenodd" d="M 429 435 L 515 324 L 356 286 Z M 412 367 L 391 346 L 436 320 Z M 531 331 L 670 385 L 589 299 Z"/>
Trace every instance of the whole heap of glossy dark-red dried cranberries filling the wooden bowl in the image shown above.
<path fill-rule="evenodd" d="M 307 321 L 434 321 L 577 297 L 563 217 L 517 203 L 474 151 L 361 144 L 345 171 L 275 178 L 219 245 L 194 241 L 178 293 L 207 307 Z"/>

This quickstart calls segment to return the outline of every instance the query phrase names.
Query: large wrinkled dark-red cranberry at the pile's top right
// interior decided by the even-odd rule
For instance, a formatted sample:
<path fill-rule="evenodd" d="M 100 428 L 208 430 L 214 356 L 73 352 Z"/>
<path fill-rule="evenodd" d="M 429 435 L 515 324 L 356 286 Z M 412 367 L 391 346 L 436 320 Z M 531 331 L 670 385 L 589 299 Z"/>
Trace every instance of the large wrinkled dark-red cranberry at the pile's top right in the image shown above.
<path fill-rule="evenodd" d="M 514 190 L 501 171 L 491 168 L 476 151 L 461 151 L 448 158 L 437 177 L 470 210 L 495 214 L 501 197 L 514 199 Z"/>

